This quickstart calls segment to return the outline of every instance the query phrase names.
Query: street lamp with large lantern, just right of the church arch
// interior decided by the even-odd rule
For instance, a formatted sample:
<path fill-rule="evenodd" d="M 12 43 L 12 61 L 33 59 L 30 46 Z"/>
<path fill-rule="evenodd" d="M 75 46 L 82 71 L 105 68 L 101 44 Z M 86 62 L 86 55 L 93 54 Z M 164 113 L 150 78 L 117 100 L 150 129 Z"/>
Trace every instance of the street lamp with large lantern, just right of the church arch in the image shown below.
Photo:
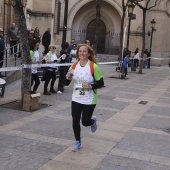
<path fill-rule="evenodd" d="M 133 19 L 133 11 L 135 8 L 135 4 L 134 3 L 130 3 L 128 5 L 128 17 L 129 17 L 129 25 L 128 25 L 128 35 L 127 35 L 127 46 L 126 49 L 129 50 L 129 37 L 130 37 L 130 26 L 131 26 L 131 20 Z"/>

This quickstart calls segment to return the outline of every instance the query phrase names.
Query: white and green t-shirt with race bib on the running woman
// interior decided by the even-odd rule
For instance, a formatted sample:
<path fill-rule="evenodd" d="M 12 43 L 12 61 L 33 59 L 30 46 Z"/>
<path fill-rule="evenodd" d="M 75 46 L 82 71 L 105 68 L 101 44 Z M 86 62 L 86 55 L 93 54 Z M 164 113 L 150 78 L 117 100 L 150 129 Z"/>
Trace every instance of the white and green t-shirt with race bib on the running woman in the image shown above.
<path fill-rule="evenodd" d="M 72 67 L 73 65 L 70 66 L 69 70 L 72 70 Z M 92 75 L 90 60 L 88 60 L 84 67 L 78 62 L 75 69 L 73 69 L 73 75 L 72 81 L 74 83 L 74 90 L 72 101 L 87 105 L 97 104 L 97 89 L 82 88 L 82 83 L 88 82 L 89 84 L 95 84 L 94 80 L 99 81 L 103 77 L 98 65 L 94 63 L 94 75 Z"/>

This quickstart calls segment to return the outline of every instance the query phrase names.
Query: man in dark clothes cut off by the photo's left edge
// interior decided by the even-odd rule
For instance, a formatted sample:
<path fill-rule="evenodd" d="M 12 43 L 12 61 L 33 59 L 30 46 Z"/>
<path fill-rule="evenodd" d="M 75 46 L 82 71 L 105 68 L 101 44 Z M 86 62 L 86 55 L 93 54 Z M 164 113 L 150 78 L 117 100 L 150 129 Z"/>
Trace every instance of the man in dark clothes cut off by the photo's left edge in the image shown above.
<path fill-rule="evenodd" d="M 3 66 L 4 50 L 5 50 L 5 42 L 3 36 L 3 29 L 0 28 L 0 68 L 2 68 Z M 3 75 L 1 75 L 1 72 L 0 72 L 0 77 L 4 77 Z"/>

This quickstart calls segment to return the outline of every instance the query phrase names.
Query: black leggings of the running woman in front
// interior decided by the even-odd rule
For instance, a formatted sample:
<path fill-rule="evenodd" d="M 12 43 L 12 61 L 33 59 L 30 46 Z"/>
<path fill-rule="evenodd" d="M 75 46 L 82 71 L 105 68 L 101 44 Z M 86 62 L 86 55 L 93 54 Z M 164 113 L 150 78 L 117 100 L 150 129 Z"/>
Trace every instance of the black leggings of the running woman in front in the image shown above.
<path fill-rule="evenodd" d="M 93 115 L 95 104 L 93 105 L 85 105 L 72 101 L 71 112 L 73 118 L 73 131 L 76 138 L 76 141 L 81 142 L 80 138 L 80 118 L 82 119 L 83 126 L 91 126 L 94 124 L 94 120 L 91 119 Z"/>

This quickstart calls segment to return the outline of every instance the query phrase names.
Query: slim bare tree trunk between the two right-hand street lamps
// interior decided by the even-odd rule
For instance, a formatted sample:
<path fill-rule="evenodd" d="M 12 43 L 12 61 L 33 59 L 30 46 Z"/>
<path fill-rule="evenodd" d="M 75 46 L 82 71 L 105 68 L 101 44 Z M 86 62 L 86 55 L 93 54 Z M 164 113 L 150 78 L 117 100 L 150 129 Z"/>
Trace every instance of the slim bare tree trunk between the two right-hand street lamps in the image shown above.
<path fill-rule="evenodd" d="M 141 53 L 141 60 L 140 60 L 140 67 L 139 67 L 139 74 L 142 74 L 143 69 L 143 56 L 145 51 L 145 22 L 146 22 L 146 9 L 143 9 L 143 32 L 142 32 L 142 53 Z"/>

